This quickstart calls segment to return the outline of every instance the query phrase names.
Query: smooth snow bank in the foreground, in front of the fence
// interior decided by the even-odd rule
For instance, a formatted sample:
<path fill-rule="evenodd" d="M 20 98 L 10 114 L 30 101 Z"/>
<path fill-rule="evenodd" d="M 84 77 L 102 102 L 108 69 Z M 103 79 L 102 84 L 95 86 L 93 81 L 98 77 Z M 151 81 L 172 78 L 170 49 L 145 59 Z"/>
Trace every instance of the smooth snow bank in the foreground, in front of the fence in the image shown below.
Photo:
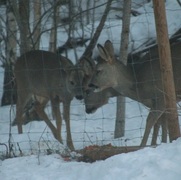
<path fill-rule="evenodd" d="M 181 139 L 95 163 L 65 162 L 59 155 L 31 155 L 1 162 L 3 180 L 180 180 Z"/>

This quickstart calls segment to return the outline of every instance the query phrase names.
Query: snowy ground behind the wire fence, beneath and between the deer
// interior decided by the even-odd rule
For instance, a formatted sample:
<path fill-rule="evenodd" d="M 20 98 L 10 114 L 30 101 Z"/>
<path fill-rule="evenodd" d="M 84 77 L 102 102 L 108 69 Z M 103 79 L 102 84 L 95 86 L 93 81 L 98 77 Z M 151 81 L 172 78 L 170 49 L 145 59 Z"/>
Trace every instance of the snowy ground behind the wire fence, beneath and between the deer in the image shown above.
<path fill-rule="evenodd" d="M 100 108 L 94 114 L 85 113 L 83 102 L 73 100 L 71 106 L 71 134 L 77 150 L 86 146 L 106 145 L 112 146 L 139 146 L 143 137 L 148 108 L 127 99 L 126 101 L 126 128 L 125 136 L 114 139 L 116 99 L 110 99 L 109 103 Z M 46 107 L 46 112 L 51 118 L 51 107 Z M 23 126 L 23 134 L 18 134 L 17 126 L 11 126 L 15 118 L 15 105 L 0 108 L 0 153 L 4 156 L 8 152 L 11 156 L 22 156 L 39 153 L 64 154 L 66 147 L 65 122 L 62 127 L 63 144 L 60 144 L 52 135 L 44 121 L 32 121 Z M 55 124 L 55 121 L 51 118 Z M 152 133 L 148 140 L 150 144 Z M 161 131 L 157 143 L 161 143 Z"/>

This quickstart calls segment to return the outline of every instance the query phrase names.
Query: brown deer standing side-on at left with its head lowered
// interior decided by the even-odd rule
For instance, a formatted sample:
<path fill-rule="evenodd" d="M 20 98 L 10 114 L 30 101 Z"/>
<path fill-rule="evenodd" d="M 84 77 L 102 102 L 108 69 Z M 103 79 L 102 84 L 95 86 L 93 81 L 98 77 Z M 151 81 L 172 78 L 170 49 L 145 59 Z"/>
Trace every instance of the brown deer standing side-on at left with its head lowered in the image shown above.
<path fill-rule="evenodd" d="M 67 130 L 67 146 L 74 149 L 70 132 L 70 103 L 74 96 L 78 99 L 83 97 L 82 70 L 77 70 L 72 62 L 63 56 L 48 51 L 34 50 L 18 58 L 14 74 L 18 96 L 16 106 L 18 132 L 23 132 L 25 107 L 33 100 L 33 108 L 39 117 L 45 120 L 54 137 L 62 143 L 60 113 L 60 102 L 62 102 Z M 51 102 L 57 128 L 51 123 L 44 111 L 48 101 Z"/>

